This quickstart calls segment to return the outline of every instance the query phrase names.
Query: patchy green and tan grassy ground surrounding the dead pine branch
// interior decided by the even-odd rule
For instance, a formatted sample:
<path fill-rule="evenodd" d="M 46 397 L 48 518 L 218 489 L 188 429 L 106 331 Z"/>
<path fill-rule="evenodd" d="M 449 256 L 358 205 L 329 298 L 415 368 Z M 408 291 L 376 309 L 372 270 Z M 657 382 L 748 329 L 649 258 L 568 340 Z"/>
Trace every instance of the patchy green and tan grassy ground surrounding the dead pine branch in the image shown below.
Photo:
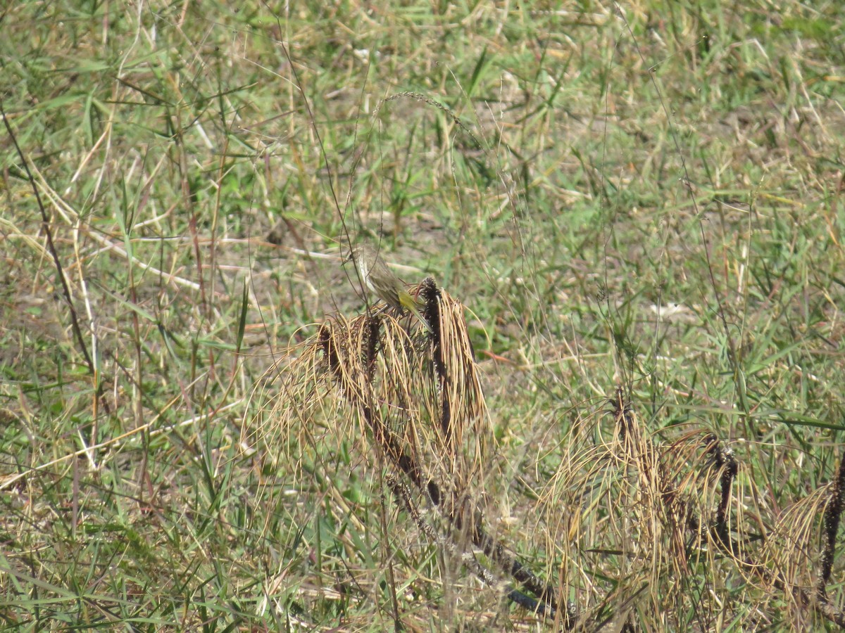
<path fill-rule="evenodd" d="M 845 10 L 394 4 L 0 10 L 3 625 L 548 626 L 354 420 L 273 430 L 365 233 L 466 306 L 491 521 L 584 628 L 832 627 L 799 589 L 845 429 Z M 646 521 L 618 387 L 702 521 L 701 438 L 735 456 L 742 564 Z"/>

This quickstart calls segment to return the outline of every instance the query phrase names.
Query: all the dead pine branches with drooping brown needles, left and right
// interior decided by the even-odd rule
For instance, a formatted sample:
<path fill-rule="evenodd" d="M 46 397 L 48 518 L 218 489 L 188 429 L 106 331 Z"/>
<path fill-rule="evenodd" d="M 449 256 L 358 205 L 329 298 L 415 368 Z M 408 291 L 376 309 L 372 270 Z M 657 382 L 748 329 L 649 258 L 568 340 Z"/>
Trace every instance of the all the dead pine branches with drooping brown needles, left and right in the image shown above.
<path fill-rule="evenodd" d="M 580 419 L 553 448 L 561 458 L 548 479 L 516 475 L 535 495 L 539 517 L 539 529 L 520 538 L 544 535 L 548 559 L 559 560 L 545 570 L 554 584 L 536 576 L 490 527 L 496 508 L 483 491 L 505 478 L 493 466 L 463 306 L 433 279 L 417 296 L 430 331 L 373 306 L 328 319 L 298 356 L 280 360 L 268 382 L 273 408 L 249 443 L 287 463 L 303 458 L 303 446 L 318 453 L 330 436 L 368 446 L 365 467 L 387 470 L 396 504 L 442 554 L 564 629 L 598 630 L 612 619 L 635 630 L 641 613 L 681 609 L 702 574 L 708 582 L 739 576 L 758 592 L 760 609 L 785 602 L 797 625 L 816 614 L 845 626 L 827 595 L 845 467 L 773 522 L 765 493 L 744 476 L 731 446 L 693 427 L 672 443 L 656 441 L 621 389 L 609 412 Z M 609 433 L 602 420 L 612 423 Z M 818 517 L 814 572 L 807 549 Z M 602 580 L 614 577 L 621 581 Z M 562 596 L 574 596 L 577 609 Z M 702 617 L 717 617 L 717 604 L 708 605 L 700 601 Z"/>

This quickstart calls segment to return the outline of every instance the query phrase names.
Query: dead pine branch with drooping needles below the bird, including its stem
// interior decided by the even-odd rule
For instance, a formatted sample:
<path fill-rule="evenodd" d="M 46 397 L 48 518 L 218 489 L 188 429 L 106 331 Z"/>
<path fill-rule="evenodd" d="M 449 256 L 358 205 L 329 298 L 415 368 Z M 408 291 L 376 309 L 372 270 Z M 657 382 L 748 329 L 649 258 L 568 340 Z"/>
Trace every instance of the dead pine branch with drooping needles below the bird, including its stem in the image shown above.
<path fill-rule="evenodd" d="M 540 602 L 507 587 L 510 599 L 553 614 L 553 588 L 484 525 L 482 490 L 493 473 L 493 437 L 463 306 L 430 278 L 418 295 L 431 332 L 416 321 L 406 326 L 384 306 L 351 320 L 336 315 L 324 322 L 301 354 L 275 367 L 281 390 L 248 443 L 294 461 L 297 446 L 316 443 L 320 425 L 366 436 L 392 471 L 388 484 L 396 502 L 427 538 L 483 582 L 497 584 L 503 572 L 512 576 Z M 357 424 L 344 422 L 351 419 Z M 498 571 L 485 568 L 472 550 L 480 550 Z"/>

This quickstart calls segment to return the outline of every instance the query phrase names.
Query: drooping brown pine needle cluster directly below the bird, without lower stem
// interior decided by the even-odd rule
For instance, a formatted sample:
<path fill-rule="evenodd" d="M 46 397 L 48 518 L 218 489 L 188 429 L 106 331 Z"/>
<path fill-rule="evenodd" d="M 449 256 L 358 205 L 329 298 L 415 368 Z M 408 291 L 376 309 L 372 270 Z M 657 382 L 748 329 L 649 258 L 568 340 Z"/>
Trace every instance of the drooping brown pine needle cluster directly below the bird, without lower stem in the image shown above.
<path fill-rule="evenodd" d="M 352 412 L 357 429 L 415 484 L 431 479 L 463 489 L 477 478 L 490 433 L 472 346 L 457 325 L 462 306 L 433 279 L 420 294 L 431 333 L 417 322 L 409 329 L 384 306 L 324 322 L 286 365 L 259 436 L 290 437 L 307 432 L 318 413 L 343 420 Z"/>

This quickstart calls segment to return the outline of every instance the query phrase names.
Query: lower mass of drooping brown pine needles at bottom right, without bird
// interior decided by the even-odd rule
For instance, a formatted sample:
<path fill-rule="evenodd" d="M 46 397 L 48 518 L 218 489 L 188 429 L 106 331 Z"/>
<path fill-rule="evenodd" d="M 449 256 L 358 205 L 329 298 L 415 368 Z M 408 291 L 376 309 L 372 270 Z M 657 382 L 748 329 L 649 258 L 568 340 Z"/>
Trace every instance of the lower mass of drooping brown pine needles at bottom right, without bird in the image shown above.
<path fill-rule="evenodd" d="M 578 625 L 598 629 L 613 621 L 635 630 L 647 620 L 673 628 L 688 617 L 702 584 L 738 579 L 755 603 L 740 616 L 746 627 L 781 612 L 784 603 L 799 628 L 814 614 L 845 623 L 826 592 L 842 512 L 842 467 L 836 482 L 779 513 L 715 432 L 693 428 L 671 442 L 657 441 L 621 390 L 610 402 L 610 432 L 600 428 L 606 415 L 580 420 L 557 448 L 559 468 L 546 484 L 534 484 L 537 532 L 545 534 L 550 558 L 560 561 L 559 589 L 579 595 Z M 695 599 L 696 621 L 716 622 L 723 609 L 717 592 Z"/>

